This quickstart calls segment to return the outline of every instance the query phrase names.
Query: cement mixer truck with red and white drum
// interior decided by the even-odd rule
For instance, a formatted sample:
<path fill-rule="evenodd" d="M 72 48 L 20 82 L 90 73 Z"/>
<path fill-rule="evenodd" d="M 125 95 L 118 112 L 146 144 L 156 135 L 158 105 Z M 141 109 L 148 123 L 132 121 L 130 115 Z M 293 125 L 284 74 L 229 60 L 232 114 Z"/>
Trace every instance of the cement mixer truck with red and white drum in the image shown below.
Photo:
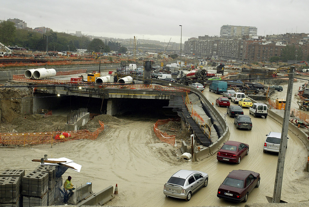
<path fill-rule="evenodd" d="M 191 84 L 195 81 L 207 81 L 208 78 L 216 76 L 215 73 L 208 73 L 207 70 L 194 69 L 192 71 L 178 71 L 177 82 L 180 84 Z"/>

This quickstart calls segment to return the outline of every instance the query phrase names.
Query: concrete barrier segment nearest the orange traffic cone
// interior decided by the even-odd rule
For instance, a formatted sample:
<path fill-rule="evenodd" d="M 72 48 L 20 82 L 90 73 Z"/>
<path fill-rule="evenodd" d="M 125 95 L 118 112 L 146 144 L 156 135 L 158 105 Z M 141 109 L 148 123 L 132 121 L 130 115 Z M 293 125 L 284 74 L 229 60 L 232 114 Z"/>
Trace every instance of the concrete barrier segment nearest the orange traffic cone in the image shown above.
<path fill-rule="evenodd" d="M 112 200 L 113 198 L 115 198 L 114 187 L 108 186 L 102 191 L 91 195 L 89 198 L 80 202 L 76 206 L 79 207 L 83 205 L 104 205 L 107 204 L 108 201 Z"/>

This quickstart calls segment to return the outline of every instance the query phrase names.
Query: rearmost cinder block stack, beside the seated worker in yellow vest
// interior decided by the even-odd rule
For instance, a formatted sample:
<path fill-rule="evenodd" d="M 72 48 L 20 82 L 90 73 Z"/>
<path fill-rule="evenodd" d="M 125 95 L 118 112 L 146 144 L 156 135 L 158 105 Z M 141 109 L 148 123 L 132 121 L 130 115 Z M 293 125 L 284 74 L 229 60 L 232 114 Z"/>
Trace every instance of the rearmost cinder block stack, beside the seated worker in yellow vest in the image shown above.
<path fill-rule="evenodd" d="M 56 166 L 39 165 L 34 171 L 48 173 L 47 205 L 51 205 L 55 197 Z"/>

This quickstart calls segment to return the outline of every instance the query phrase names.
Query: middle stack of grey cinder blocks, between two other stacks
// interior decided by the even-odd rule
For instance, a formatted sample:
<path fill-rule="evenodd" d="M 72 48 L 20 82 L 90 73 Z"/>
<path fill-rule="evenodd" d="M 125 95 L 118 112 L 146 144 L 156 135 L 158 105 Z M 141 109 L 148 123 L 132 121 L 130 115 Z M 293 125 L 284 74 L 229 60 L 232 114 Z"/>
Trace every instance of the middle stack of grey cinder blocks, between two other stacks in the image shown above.
<path fill-rule="evenodd" d="M 33 171 L 23 177 L 23 207 L 46 206 L 49 173 Z"/>

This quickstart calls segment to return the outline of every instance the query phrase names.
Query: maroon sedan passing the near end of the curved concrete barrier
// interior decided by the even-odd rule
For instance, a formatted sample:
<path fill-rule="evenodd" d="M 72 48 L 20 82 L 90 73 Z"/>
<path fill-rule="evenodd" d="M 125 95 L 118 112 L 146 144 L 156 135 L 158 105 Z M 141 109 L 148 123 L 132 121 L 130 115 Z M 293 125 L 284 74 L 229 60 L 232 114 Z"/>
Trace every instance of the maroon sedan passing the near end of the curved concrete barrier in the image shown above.
<path fill-rule="evenodd" d="M 236 141 L 227 141 L 217 152 L 217 160 L 230 163 L 240 163 L 245 155 L 249 153 L 249 145 Z"/>

